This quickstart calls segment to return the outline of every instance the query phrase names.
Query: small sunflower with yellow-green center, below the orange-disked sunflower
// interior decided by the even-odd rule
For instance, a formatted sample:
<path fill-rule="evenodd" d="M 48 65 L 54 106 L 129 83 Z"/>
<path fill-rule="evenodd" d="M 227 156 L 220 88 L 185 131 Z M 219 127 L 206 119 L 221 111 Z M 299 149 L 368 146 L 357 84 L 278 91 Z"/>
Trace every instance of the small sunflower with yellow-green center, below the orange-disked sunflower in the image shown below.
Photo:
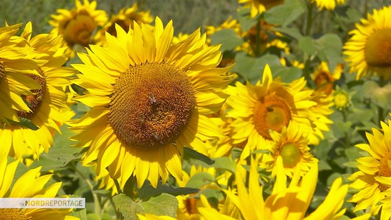
<path fill-rule="evenodd" d="M 313 157 L 308 147 L 308 137 L 299 129 L 299 124 L 290 122 L 288 127 L 284 126 L 281 133 L 271 133 L 273 142 L 268 145 L 270 154 L 264 154 L 262 163 L 266 164 L 268 170 L 272 171 L 272 177 L 277 172 L 277 157 L 282 158 L 284 172 L 288 177 L 292 177 L 295 168 L 302 168 L 304 175 L 310 166 L 318 160 Z"/>

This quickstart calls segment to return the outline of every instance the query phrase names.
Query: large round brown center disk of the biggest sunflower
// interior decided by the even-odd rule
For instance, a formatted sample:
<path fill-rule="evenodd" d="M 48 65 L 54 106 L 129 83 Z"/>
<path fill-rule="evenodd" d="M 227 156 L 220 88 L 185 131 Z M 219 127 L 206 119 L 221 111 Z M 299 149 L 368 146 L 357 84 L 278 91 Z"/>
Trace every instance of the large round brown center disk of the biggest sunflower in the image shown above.
<path fill-rule="evenodd" d="M 194 109 L 193 86 L 182 69 L 147 63 L 117 79 L 109 124 L 127 146 L 149 151 L 175 142 Z"/>

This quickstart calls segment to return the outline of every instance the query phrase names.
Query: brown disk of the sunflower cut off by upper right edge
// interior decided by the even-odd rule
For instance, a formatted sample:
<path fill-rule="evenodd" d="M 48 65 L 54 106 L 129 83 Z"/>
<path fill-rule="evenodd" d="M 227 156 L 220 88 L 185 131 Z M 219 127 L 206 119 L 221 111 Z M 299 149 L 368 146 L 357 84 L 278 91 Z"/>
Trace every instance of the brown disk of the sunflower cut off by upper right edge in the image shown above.
<path fill-rule="evenodd" d="M 391 67 L 391 29 L 377 30 L 368 37 L 365 56 L 372 67 Z"/>

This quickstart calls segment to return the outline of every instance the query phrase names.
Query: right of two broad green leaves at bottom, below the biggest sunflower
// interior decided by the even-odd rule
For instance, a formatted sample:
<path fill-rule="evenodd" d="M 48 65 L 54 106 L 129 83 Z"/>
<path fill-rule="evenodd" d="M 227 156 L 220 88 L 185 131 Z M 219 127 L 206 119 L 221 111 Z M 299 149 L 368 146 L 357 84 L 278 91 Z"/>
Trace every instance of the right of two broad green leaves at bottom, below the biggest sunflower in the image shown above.
<path fill-rule="evenodd" d="M 141 206 L 147 213 L 155 214 L 157 216 L 166 215 L 176 217 L 178 199 L 173 195 L 162 193 L 157 197 L 152 197 L 148 201 L 142 202 Z"/>

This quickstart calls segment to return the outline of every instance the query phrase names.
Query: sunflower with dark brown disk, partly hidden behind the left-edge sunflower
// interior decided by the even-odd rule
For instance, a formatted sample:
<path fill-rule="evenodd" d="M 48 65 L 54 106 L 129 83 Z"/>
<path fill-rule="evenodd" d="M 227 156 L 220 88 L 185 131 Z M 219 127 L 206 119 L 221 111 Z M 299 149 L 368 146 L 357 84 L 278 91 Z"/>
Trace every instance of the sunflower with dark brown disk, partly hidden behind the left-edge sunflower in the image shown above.
<path fill-rule="evenodd" d="M 74 113 L 67 104 L 67 95 L 63 87 L 70 85 L 70 76 L 76 71 L 70 67 L 62 67 L 67 61 L 66 47 L 61 47 L 62 38 L 52 34 L 39 34 L 31 39 L 32 24 L 25 25 L 22 36 L 25 47 L 39 52 L 45 64 L 35 69 L 34 74 L 25 77 L 34 80 L 40 88 L 23 96 L 30 107 L 30 112 L 17 111 L 19 120 L 29 120 L 33 127 L 22 123 L 4 124 L 0 129 L 3 142 L 1 151 L 22 159 L 23 155 L 39 157 L 42 151 L 49 151 L 53 144 L 53 135 L 59 126 L 72 118 Z M 20 43 L 21 44 L 21 43 Z"/>

